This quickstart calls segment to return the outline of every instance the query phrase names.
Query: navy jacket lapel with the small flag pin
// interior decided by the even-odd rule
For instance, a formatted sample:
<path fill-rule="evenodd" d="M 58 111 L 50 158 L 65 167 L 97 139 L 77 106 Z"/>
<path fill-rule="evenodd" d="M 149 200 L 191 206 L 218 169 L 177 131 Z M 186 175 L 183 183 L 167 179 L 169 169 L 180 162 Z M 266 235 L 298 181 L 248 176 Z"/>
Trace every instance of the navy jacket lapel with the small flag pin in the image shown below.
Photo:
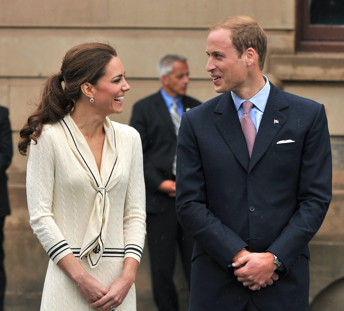
<path fill-rule="evenodd" d="M 267 151 L 272 143 L 273 138 L 275 138 L 287 119 L 280 112 L 280 110 L 288 107 L 289 105 L 283 94 L 279 94 L 281 91 L 272 84 L 270 85 L 270 94 L 266 103 L 263 117 L 259 125 L 255 144 L 253 146 L 248 173 Z M 278 123 L 276 122 L 276 120 L 278 121 Z"/>

